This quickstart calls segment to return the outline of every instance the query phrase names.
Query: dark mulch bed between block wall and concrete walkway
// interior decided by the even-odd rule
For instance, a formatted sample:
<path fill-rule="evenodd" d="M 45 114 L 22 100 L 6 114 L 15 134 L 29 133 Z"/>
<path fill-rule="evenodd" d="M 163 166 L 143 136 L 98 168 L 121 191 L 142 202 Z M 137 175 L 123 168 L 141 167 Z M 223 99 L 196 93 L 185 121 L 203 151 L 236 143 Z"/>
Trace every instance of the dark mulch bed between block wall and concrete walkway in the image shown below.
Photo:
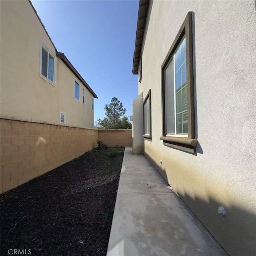
<path fill-rule="evenodd" d="M 1 255 L 106 255 L 124 148 L 86 152 L 1 195 Z"/>

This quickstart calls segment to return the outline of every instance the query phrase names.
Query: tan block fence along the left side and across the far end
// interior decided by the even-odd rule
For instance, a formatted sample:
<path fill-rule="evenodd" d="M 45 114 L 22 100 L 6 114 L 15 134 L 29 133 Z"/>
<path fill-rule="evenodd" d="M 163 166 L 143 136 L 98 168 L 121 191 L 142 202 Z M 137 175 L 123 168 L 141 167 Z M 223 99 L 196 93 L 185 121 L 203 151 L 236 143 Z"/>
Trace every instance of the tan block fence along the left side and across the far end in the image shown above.
<path fill-rule="evenodd" d="M 131 146 L 132 130 L 93 130 L 0 119 L 0 192 L 42 175 L 84 154 L 102 140 Z"/>

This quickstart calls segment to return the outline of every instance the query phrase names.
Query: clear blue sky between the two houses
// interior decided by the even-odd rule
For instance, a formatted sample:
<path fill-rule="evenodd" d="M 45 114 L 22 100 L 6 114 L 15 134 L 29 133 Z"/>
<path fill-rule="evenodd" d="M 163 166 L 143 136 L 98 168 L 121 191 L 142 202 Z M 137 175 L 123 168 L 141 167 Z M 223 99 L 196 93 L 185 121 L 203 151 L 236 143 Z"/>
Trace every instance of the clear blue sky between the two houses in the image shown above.
<path fill-rule="evenodd" d="M 32 4 L 59 52 L 97 94 L 94 121 L 117 97 L 132 115 L 138 76 L 132 74 L 138 0 L 40 1 Z"/>

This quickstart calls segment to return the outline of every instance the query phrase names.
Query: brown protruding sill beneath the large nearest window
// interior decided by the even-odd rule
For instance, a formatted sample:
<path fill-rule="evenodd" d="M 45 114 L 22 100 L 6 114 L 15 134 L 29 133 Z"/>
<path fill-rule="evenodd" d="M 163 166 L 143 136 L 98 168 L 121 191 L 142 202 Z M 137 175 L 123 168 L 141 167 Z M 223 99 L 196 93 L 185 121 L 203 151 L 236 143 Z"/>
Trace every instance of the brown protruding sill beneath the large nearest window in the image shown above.
<path fill-rule="evenodd" d="M 196 153 L 196 146 L 198 144 L 198 140 L 196 139 L 162 136 L 160 137 L 160 140 L 164 141 L 165 146 L 176 148 L 178 150 L 182 150 L 192 154 Z"/>

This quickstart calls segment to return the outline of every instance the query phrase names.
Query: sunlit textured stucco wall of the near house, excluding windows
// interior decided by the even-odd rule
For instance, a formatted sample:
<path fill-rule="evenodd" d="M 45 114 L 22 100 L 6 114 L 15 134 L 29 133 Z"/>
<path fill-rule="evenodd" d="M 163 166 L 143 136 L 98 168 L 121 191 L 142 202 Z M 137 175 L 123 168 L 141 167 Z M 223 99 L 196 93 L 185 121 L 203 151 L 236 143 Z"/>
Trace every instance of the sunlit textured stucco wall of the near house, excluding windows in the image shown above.
<path fill-rule="evenodd" d="M 161 65 L 194 12 L 196 155 L 163 145 Z M 150 159 L 230 255 L 256 252 L 256 9 L 254 1 L 153 1 L 142 81 L 151 89 Z M 162 160 L 162 164 L 160 164 Z M 224 206 L 227 215 L 218 214 Z"/>

